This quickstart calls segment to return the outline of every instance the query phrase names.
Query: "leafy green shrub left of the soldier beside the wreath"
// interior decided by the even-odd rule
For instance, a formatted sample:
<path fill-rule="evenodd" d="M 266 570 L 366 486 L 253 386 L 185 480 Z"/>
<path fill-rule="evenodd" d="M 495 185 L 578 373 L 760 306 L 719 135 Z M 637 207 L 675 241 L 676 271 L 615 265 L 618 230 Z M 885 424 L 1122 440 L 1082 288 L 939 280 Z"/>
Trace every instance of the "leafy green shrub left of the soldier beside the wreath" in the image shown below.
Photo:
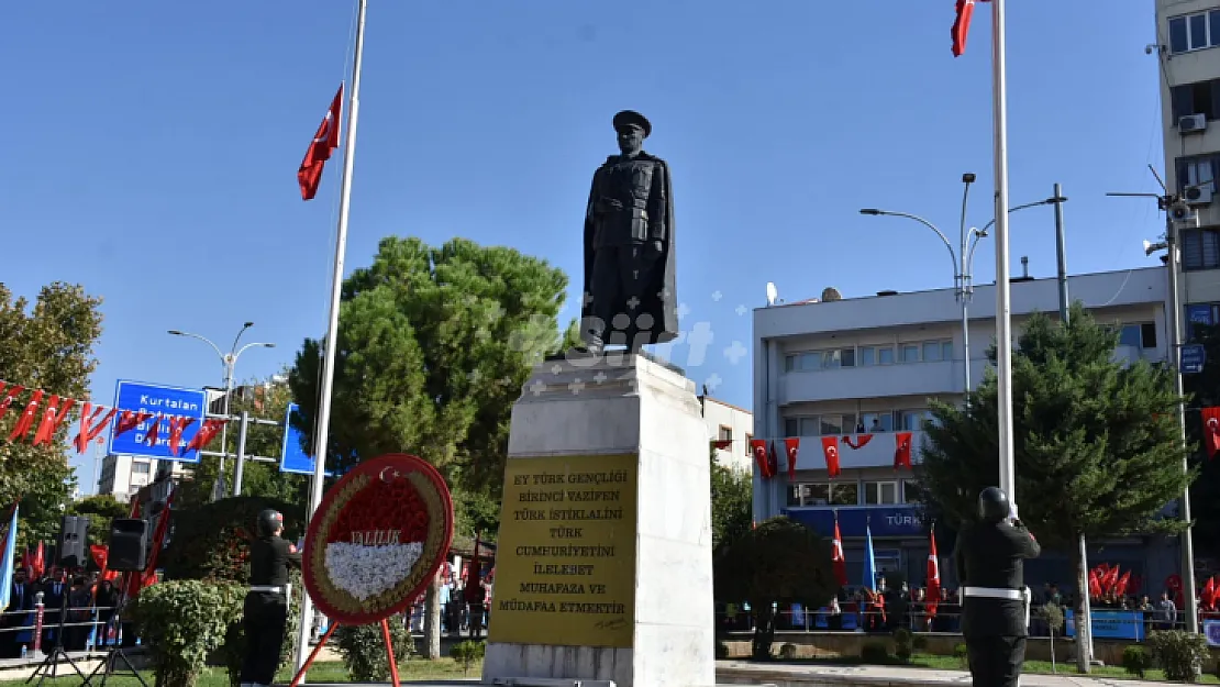
<path fill-rule="evenodd" d="M 156 687 L 194 687 L 207 654 L 242 614 L 245 589 L 196 580 L 159 582 L 140 592 L 131 619 L 149 647 Z"/>

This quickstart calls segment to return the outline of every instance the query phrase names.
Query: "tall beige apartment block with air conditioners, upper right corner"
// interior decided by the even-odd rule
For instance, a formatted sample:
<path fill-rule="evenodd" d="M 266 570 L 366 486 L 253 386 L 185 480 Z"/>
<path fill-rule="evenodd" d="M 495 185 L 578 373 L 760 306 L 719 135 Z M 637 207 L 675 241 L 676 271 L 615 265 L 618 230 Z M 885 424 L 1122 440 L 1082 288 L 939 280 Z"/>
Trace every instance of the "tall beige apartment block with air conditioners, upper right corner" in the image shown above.
<path fill-rule="evenodd" d="M 1220 322 L 1220 0 L 1157 0 L 1165 183 L 1193 215 L 1177 223 L 1185 322 Z M 1150 237 L 1149 237 L 1150 238 Z M 1190 326 L 1186 327 L 1187 336 Z"/>

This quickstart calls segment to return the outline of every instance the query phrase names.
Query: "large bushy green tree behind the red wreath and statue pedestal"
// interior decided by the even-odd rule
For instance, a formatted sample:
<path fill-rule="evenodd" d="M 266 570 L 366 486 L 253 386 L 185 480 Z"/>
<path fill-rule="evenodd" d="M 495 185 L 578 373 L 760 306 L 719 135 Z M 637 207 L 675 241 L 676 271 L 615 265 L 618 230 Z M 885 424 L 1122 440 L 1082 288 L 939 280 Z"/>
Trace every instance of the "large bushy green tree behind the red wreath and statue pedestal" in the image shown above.
<path fill-rule="evenodd" d="M 511 248 L 382 239 L 343 286 L 328 465 L 406 451 L 451 487 L 498 497 L 512 404 L 532 365 L 561 347 L 567 283 Z M 289 373 L 303 427 L 317 416 L 323 343 L 306 339 Z"/>

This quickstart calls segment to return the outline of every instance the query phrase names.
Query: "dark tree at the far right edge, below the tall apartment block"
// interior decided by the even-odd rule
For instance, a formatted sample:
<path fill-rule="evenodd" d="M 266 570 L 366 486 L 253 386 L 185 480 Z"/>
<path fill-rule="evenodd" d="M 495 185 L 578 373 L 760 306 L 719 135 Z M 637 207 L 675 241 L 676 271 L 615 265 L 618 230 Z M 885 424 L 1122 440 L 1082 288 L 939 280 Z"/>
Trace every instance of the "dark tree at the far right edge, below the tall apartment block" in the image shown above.
<path fill-rule="evenodd" d="M 1186 437 L 1198 447 L 1192 461 L 1199 466 L 1199 478 L 1191 484 L 1191 515 L 1194 517 L 1194 552 L 1202 556 L 1220 555 L 1220 459 L 1208 456 L 1200 410 L 1220 405 L 1220 326 L 1192 325 L 1193 343 L 1203 344 L 1207 364 L 1203 372 L 1186 375 L 1182 384 L 1191 397 L 1186 411 Z M 1177 420 L 1177 416 L 1174 416 Z"/>

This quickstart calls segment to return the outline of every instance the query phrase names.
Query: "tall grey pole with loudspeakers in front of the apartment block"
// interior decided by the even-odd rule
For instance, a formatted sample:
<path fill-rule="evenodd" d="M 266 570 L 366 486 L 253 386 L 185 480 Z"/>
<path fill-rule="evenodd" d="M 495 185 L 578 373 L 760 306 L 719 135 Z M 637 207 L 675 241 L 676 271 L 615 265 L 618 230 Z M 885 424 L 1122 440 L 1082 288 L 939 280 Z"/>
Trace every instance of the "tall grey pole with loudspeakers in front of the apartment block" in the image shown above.
<path fill-rule="evenodd" d="M 1174 220 L 1168 220 L 1168 229 L 1165 232 L 1165 240 L 1152 243 L 1144 242 L 1144 255 L 1152 256 L 1153 253 L 1164 250 L 1166 256 L 1163 259 L 1165 262 L 1165 270 L 1169 272 L 1169 333 L 1170 333 L 1170 347 L 1169 347 L 1169 362 L 1174 366 L 1174 393 L 1177 394 L 1177 431 L 1179 441 L 1181 442 L 1182 450 L 1182 471 L 1191 471 L 1190 455 L 1187 455 L 1186 447 L 1186 404 L 1185 404 L 1185 389 L 1182 386 L 1182 304 L 1180 303 L 1180 295 L 1177 292 L 1177 268 L 1179 261 L 1181 260 L 1180 251 L 1177 250 L 1177 227 L 1174 225 Z M 1191 533 L 1191 486 L 1187 484 L 1186 489 L 1182 491 L 1182 505 L 1181 505 L 1182 521 L 1186 522 L 1186 530 L 1182 532 L 1182 594 L 1186 597 L 1186 630 L 1191 633 L 1198 633 L 1199 631 L 1199 606 L 1198 598 L 1194 593 L 1194 536 Z"/>

